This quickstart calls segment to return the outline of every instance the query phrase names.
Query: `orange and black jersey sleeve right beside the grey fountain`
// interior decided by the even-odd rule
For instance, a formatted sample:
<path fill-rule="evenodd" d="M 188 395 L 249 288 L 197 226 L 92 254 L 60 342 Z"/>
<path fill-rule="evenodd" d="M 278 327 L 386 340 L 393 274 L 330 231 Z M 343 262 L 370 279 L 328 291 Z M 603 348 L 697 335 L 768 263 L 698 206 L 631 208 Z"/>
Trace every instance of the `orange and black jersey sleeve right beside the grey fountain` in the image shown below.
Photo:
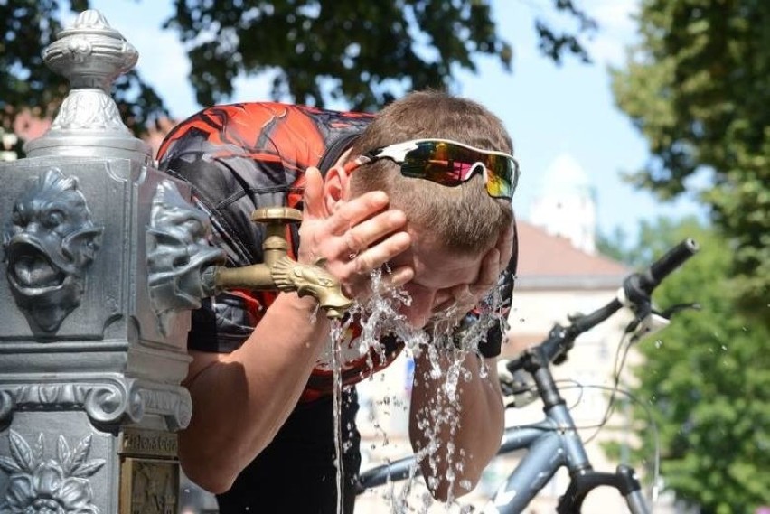
<path fill-rule="evenodd" d="M 264 228 L 251 214 L 261 206 L 285 205 L 301 175 L 263 137 L 280 107 L 268 103 L 203 109 L 176 126 L 159 151 L 159 167 L 189 183 L 194 203 L 209 215 L 211 243 L 225 251 L 227 266 L 263 260 Z M 286 167 L 292 169 L 287 172 Z M 274 298 L 269 291 L 233 290 L 203 299 L 202 307 L 192 312 L 188 348 L 236 350 Z"/>

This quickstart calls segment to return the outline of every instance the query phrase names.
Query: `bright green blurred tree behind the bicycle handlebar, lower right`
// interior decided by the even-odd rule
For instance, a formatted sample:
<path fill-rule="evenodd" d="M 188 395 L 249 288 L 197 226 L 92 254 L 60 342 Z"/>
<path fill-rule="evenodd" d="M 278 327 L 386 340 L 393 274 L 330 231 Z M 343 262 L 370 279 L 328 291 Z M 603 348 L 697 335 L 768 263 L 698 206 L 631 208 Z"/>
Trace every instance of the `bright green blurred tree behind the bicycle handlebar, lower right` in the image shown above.
<path fill-rule="evenodd" d="M 754 512 L 770 491 L 770 331 L 738 312 L 726 294 L 730 253 L 694 220 L 643 227 L 639 248 L 660 257 L 684 238 L 700 252 L 655 291 L 661 308 L 697 302 L 664 331 L 639 343 L 634 407 L 641 426 L 636 459 L 654 453 L 649 416 L 661 444 L 662 479 L 702 514 Z M 647 261 L 649 262 L 649 261 Z"/>

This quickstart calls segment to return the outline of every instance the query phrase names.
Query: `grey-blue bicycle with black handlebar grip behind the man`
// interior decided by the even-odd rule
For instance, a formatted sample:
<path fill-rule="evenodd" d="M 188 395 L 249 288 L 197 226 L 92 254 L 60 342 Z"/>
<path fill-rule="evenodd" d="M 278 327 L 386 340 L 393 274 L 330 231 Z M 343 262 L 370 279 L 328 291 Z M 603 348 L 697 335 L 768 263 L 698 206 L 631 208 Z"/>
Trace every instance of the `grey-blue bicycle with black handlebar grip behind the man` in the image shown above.
<path fill-rule="evenodd" d="M 644 498 L 642 485 L 631 466 L 621 464 L 615 472 L 594 470 L 550 366 L 559 365 L 567 359 L 578 335 L 605 322 L 622 308 L 628 308 L 634 314 L 626 332 L 633 333 L 633 337 L 638 339 L 662 329 L 669 323 L 671 315 L 681 308 L 695 306 L 675 305 L 660 313 L 653 309 L 652 294 L 666 276 L 695 255 L 698 249 L 698 244 L 693 239 L 685 239 L 648 269 L 626 276 L 611 302 L 593 313 L 570 316 L 566 326 L 554 324 L 546 339 L 539 345 L 524 350 L 515 359 L 505 361 L 505 369 L 512 376 L 521 376 L 521 372 L 524 372 L 531 379 L 537 391 L 536 397 L 543 403 L 545 417 L 534 424 L 505 429 L 498 455 L 515 450 L 526 450 L 527 453 L 484 507 L 484 513 L 521 512 L 561 467 L 568 469 L 570 483 L 559 499 L 559 514 L 579 513 L 587 494 L 602 486 L 618 490 L 624 496 L 632 514 L 651 512 Z M 515 397 L 517 392 L 529 390 L 526 385 L 521 384 L 521 380 L 518 382 L 518 388 L 510 380 L 502 384 L 506 396 Z M 362 493 L 390 481 L 411 479 L 418 474 L 415 459 L 409 456 L 362 472 L 358 492 Z"/>

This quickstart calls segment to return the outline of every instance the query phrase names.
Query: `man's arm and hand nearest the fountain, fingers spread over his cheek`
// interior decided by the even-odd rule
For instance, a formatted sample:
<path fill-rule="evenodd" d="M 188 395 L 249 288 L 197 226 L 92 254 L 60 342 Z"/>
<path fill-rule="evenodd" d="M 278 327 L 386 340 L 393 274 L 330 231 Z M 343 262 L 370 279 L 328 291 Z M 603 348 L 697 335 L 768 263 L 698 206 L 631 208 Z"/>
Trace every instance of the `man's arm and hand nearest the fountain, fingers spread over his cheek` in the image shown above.
<path fill-rule="evenodd" d="M 323 180 L 308 169 L 300 226 L 300 262 L 326 259 L 326 269 L 349 295 L 361 294 L 365 277 L 410 244 L 403 212 L 386 210 L 383 192 L 324 207 Z M 352 260 L 350 244 L 367 248 Z M 394 285 L 410 269 L 395 271 Z M 192 352 L 184 385 L 192 396 L 192 421 L 180 433 L 184 472 L 204 489 L 230 489 L 241 472 L 277 434 L 296 406 L 328 340 L 330 323 L 313 298 L 278 294 L 249 338 L 229 354 Z"/>

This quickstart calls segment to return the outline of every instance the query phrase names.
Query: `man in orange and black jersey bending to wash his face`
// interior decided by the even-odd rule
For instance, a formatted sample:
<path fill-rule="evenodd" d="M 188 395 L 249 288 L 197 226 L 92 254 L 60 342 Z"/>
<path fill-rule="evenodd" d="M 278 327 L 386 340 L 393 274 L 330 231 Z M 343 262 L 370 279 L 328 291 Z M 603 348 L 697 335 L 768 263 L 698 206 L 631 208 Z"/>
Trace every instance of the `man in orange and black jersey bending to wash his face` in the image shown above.
<path fill-rule="evenodd" d="M 177 126 L 159 159 L 192 184 L 229 266 L 261 262 L 253 210 L 296 207 L 304 214 L 292 229 L 293 257 L 324 257 L 359 302 L 376 293 L 371 272 L 384 269 L 383 282 L 410 297 L 400 311 L 408 324 L 434 330 L 437 316 L 470 311 L 506 267 L 502 297 L 512 293 L 511 152 L 502 123 L 484 107 L 424 91 L 374 117 L 277 103 L 211 107 Z M 180 458 L 193 481 L 218 493 L 224 513 L 336 511 L 331 371 L 322 359 L 330 322 L 315 309 L 313 298 L 294 293 L 231 292 L 193 313 L 184 382 L 193 414 Z M 427 352 L 416 358 L 409 433 L 439 499 L 472 489 L 500 443 L 493 358 L 501 339 L 491 330 L 479 346 L 483 358 L 465 356 L 473 378 L 458 385 L 459 424 L 430 431 L 443 440 L 430 452 L 424 422 L 441 382 L 429 378 Z M 371 355 L 343 351 L 345 512 L 360 463 L 352 384 L 403 347 L 392 336 L 383 344 Z"/>

